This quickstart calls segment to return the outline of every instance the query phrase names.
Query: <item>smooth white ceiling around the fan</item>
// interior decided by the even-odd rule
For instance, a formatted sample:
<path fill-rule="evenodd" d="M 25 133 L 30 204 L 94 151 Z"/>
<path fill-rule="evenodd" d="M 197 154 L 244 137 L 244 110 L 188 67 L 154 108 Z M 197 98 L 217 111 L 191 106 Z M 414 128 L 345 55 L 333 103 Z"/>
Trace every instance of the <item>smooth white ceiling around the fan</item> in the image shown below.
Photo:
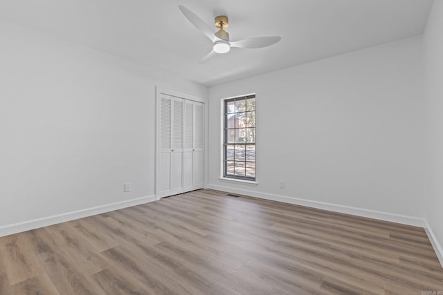
<path fill-rule="evenodd" d="M 161 68 L 207 86 L 421 34 L 433 0 L 0 0 L 0 17 Z M 261 49 L 212 48 L 179 4 L 213 27 L 228 15 L 231 41 L 280 35 Z M 216 28 L 214 31 L 216 31 Z"/>

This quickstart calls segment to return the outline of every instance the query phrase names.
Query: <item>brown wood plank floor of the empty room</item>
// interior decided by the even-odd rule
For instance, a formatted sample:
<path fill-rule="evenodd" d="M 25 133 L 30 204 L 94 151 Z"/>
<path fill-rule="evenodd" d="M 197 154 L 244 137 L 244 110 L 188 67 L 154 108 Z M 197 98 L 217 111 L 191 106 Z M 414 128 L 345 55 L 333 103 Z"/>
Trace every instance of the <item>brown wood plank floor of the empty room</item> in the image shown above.
<path fill-rule="evenodd" d="M 0 294 L 443 294 L 424 229 L 211 190 L 0 238 Z"/>

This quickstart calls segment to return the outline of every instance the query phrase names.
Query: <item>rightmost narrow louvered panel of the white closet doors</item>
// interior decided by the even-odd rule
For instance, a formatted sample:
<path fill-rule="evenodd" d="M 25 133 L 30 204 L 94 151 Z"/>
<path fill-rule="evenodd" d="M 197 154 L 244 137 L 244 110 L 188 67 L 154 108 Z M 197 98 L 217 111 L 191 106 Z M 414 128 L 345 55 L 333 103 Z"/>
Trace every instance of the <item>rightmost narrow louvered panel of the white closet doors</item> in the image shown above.
<path fill-rule="evenodd" d="M 204 187 L 204 104 L 194 103 L 194 148 L 192 149 L 192 189 Z"/>

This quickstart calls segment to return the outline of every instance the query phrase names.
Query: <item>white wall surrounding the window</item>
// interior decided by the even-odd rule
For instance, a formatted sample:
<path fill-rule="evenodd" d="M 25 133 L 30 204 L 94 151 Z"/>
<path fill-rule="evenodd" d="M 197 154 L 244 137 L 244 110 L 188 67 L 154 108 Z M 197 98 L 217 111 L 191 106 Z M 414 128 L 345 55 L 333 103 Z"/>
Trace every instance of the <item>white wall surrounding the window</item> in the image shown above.
<path fill-rule="evenodd" d="M 218 179 L 220 99 L 246 93 L 257 187 Z M 210 87 L 209 118 L 208 187 L 422 225 L 421 37 Z"/>

